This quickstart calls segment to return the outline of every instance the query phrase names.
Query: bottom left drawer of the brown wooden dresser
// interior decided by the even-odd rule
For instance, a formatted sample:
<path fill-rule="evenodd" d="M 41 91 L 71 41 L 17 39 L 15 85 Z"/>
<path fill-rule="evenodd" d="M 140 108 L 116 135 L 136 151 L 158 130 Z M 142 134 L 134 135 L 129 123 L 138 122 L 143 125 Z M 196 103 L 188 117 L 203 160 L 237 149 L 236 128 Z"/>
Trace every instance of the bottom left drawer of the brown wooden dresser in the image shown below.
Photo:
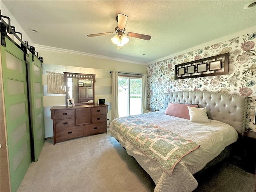
<path fill-rule="evenodd" d="M 56 128 L 56 142 L 83 136 L 83 127 Z"/>

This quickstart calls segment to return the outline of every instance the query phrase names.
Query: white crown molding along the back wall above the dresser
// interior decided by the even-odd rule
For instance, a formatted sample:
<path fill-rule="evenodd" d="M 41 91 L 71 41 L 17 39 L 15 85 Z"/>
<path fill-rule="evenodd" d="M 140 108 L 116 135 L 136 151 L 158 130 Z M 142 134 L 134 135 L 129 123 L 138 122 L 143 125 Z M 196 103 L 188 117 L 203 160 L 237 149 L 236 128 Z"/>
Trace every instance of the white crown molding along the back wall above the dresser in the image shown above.
<path fill-rule="evenodd" d="M 52 52 L 69 53 L 69 54 L 76 54 L 76 55 L 82 55 L 82 56 L 88 56 L 88 57 L 94 57 L 94 58 L 100 58 L 100 59 L 107 59 L 107 60 L 113 60 L 113 61 L 119 61 L 119 62 L 146 65 L 146 63 L 144 63 L 144 62 L 136 62 L 136 61 L 131 61 L 131 60 L 112 58 L 112 57 L 90 54 L 90 53 L 85 53 L 85 52 L 80 52 L 80 51 L 73 51 L 73 50 L 62 49 L 62 48 L 57 48 L 57 47 L 44 46 L 44 45 L 39 45 L 39 44 L 34 44 L 34 46 L 36 49 L 47 50 L 47 51 L 52 51 Z"/>

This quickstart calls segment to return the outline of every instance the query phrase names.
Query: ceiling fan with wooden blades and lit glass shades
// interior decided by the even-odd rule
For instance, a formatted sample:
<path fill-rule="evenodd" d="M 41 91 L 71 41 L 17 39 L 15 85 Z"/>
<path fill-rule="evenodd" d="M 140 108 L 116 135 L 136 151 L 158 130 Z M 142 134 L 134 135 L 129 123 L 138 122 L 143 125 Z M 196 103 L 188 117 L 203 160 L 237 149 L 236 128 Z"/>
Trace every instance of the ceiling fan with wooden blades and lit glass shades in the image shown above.
<path fill-rule="evenodd" d="M 128 32 L 125 33 L 125 24 L 127 21 L 128 16 L 124 14 L 118 14 L 116 17 L 116 20 L 118 22 L 117 27 L 115 28 L 115 33 L 114 32 L 107 32 L 107 33 L 96 33 L 96 34 L 89 34 L 87 35 L 88 37 L 95 37 L 95 36 L 101 36 L 101 35 L 112 35 L 116 34 L 113 38 L 111 38 L 111 41 L 116 44 L 116 49 L 121 49 L 122 46 L 127 44 L 129 42 L 129 38 L 127 38 L 125 35 L 129 37 L 134 37 L 134 38 L 139 38 L 139 39 L 144 39 L 144 40 L 150 40 L 151 36 L 150 35 L 144 35 L 144 34 L 139 34 L 139 33 L 132 33 Z"/>

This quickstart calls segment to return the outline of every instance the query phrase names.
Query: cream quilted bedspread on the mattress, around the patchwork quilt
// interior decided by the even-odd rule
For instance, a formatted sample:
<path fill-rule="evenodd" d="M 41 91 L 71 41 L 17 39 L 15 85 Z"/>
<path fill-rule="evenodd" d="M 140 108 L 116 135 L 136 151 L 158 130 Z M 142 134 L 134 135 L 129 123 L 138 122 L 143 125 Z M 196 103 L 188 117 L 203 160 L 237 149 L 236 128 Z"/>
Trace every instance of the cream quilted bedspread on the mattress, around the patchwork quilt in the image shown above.
<path fill-rule="evenodd" d="M 182 157 L 172 174 L 166 172 L 156 160 L 150 158 L 117 130 L 115 124 L 122 117 L 111 122 L 110 135 L 116 138 L 126 148 L 127 153 L 133 156 L 150 175 L 156 184 L 155 192 L 191 192 L 198 186 L 193 174 L 202 170 L 226 146 L 236 142 L 238 133 L 232 126 L 216 120 L 210 120 L 210 123 L 190 122 L 184 118 L 166 115 L 164 112 L 161 110 L 133 117 L 169 130 L 200 145 L 199 148 Z"/>

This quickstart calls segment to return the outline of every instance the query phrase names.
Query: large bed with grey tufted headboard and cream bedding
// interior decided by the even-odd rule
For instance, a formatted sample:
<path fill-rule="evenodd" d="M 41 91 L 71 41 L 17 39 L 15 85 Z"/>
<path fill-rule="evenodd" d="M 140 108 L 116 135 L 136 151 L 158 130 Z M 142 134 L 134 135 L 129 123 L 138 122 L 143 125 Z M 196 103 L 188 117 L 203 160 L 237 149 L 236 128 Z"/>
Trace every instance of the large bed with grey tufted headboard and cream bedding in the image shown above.
<path fill-rule="evenodd" d="M 170 103 L 198 104 L 210 122 L 165 114 Z M 188 108 L 192 112 L 196 106 Z M 193 175 L 226 158 L 230 146 L 244 134 L 246 108 L 246 96 L 171 92 L 164 95 L 164 110 L 116 118 L 110 123 L 110 135 L 150 175 L 154 192 L 191 192 L 198 186 Z"/>

